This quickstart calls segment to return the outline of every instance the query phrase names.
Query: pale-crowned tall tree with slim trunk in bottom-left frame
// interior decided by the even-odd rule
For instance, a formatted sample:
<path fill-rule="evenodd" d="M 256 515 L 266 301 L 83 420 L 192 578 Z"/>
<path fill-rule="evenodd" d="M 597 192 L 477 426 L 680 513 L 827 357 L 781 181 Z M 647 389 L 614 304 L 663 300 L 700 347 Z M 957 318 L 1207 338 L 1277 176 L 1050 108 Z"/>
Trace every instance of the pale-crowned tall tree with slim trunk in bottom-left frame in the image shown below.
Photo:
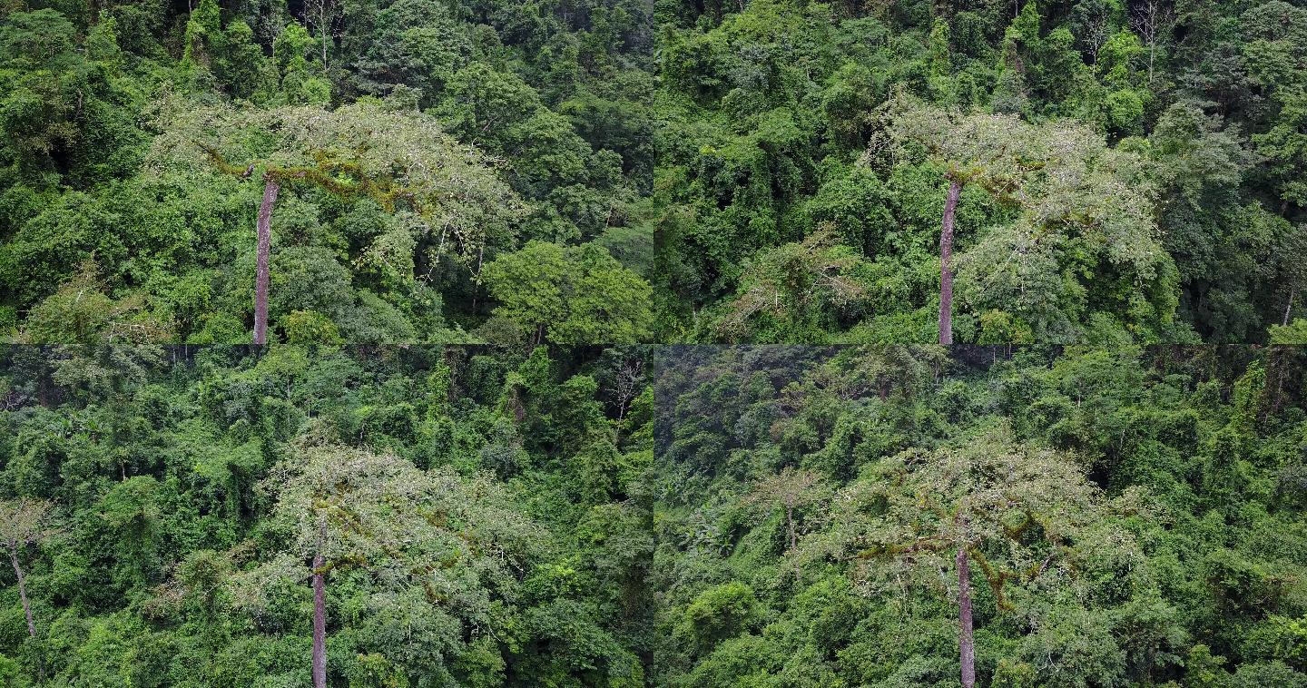
<path fill-rule="evenodd" d="M 450 615 L 491 613 L 485 606 L 495 593 L 485 587 L 507 581 L 545 538 L 510 509 L 503 488 L 490 477 L 468 480 L 448 468 L 426 472 L 393 454 L 311 438 L 273 468 L 265 488 L 277 497 L 271 518 L 285 548 L 251 581 L 267 587 L 307 574 L 315 688 L 328 684 L 329 577 L 357 569 L 387 595 L 416 595 L 396 604 L 425 600 L 425 613 L 454 628 L 461 642 L 489 629 Z M 465 608 L 439 606 L 455 591 L 468 598 Z"/>

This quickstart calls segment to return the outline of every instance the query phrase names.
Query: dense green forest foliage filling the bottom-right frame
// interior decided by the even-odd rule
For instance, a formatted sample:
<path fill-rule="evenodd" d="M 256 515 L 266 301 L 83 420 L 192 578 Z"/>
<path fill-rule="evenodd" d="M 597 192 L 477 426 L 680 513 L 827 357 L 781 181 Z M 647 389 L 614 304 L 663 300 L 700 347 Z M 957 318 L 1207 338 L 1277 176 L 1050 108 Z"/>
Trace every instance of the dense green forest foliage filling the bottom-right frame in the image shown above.
<path fill-rule="evenodd" d="M 654 683 L 1304 687 L 1304 362 L 664 349 Z"/>

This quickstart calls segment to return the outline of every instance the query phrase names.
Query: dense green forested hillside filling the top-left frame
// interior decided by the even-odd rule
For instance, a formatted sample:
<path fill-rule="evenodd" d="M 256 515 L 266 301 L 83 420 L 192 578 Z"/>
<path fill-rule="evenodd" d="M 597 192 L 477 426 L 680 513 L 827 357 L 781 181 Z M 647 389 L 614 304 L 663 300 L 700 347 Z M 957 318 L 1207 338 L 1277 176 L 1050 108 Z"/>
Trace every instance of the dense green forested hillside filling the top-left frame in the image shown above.
<path fill-rule="evenodd" d="M 248 343 L 267 260 L 267 341 L 646 340 L 651 27 L 638 0 L 4 3 L 0 336 Z"/>

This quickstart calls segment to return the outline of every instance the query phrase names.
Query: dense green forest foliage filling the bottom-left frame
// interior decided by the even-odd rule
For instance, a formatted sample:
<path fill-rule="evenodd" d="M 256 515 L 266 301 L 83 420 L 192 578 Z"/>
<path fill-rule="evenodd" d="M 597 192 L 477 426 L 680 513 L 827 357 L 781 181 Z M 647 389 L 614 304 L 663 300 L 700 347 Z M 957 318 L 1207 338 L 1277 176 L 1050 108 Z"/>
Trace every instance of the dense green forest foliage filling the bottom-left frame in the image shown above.
<path fill-rule="evenodd" d="M 646 685 L 646 358 L 0 351 L 0 683 Z"/>

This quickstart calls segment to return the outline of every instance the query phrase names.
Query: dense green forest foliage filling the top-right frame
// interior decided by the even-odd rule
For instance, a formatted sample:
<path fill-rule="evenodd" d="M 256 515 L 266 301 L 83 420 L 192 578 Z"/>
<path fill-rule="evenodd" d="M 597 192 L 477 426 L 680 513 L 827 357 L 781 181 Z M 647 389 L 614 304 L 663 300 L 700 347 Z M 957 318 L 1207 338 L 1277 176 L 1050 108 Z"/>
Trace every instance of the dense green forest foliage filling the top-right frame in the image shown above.
<path fill-rule="evenodd" d="M 697 0 L 655 26 L 663 341 L 936 341 L 950 182 L 958 341 L 1307 341 L 1303 3 Z"/>

